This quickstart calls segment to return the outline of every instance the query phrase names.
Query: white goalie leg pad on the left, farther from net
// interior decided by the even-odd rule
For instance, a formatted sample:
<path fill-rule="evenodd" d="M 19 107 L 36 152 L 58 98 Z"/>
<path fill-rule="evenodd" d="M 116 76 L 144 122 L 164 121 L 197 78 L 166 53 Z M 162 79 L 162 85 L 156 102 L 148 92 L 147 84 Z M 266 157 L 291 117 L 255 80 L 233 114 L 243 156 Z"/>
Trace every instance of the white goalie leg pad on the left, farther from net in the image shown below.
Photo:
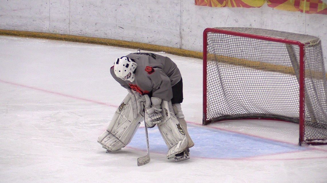
<path fill-rule="evenodd" d="M 107 130 L 97 140 L 103 148 L 110 152 L 117 151 L 131 141 L 143 121 L 144 101 L 144 97 L 129 91 L 113 115 Z"/>

